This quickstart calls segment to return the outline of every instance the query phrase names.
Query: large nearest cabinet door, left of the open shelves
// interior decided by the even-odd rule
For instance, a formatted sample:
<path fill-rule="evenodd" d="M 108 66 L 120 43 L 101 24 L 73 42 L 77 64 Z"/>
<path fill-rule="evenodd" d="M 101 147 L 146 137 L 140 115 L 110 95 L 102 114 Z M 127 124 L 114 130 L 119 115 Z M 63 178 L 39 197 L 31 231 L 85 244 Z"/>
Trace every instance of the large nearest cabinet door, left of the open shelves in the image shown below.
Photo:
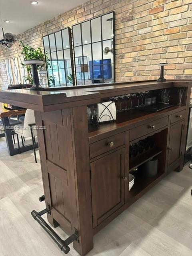
<path fill-rule="evenodd" d="M 124 204 L 125 150 L 91 163 L 93 227 Z"/>

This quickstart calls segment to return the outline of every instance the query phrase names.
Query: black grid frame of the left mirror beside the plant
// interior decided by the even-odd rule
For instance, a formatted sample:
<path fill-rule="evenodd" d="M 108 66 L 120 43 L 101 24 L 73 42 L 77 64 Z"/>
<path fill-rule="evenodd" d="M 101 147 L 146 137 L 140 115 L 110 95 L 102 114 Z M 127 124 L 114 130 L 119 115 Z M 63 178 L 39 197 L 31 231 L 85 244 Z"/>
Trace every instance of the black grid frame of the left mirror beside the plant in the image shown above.
<path fill-rule="evenodd" d="M 61 85 L 61 83 L 60 83 L 60 75 L 59 75 L 59 66 L 58 66 L 58 61 L 59 61 L 59 58 L 58 58 L 58 55 L 57 55 L 57 44 L 56 44 L 56 33 L 58 33 L 58 32 L 60 32 L 61 33 L 61 40 L 62 40 L 62 53 L 63 53 L 63 62 L 64 62 L 64 71 L 65 71 L 65 80 L 66 80 L 66 86 L 68 86 L 67 85 L 67 80 L 68 80 L 68 78 L 67 78 L 67 74 L 66 74 L 66 67 L 65 67 L 65 58 L 64 58 L 64 50 L 66 50 L 65 48 L 64 48 L 64 46 L 63 46 L 63 37 L 62 37 L 62 31 L 64 31 L 64 30 L 68 30 L 68 37 L 69 37 L 69 48 L 67 48 L 67 49 L 69 49 L 70 50 L 70 64 L 71 64 L 71 70 L 72 70 L 72 80 L 73 80 L 73 83 L 72 83 L 72 85 L 74 86 L 74 82 L 75 82 L 75 76 L 74 76 L 74 60 L 73 60 L 73 53 L 72 53 L 72 38 L 71 38 L 71 30 L 70 30 L 70 28 L 64 28 L 64 29 L 62 29 L 62 30 L 58 30 L 58 31 L 56 31 L 56 32 L 54 32 L 54 33 L 51 33 L 51 34 L 48 34 L 48 35 L 46 35 L 46 36 L 43 36 L 43 47 L 44 47 L 44 54 L 47 54 L 47 52 L 46 52 L 46 50 L 45 50 L 45 45 L 44 45 L 44 38 L 45 37 L 48 37 L 48 41 L 49 41 L 49 53 L 50 53 L 50 61 L 52 61 L 52 58 L 51 58 L 51 47 L 50 47 L 50 35 L 53 35 L 54 34 L 54 39 L 55 39 L 55 46 L 56 46 L 56 50 L 55 50 L 55 52 L 56 52 L 56 61 L 57 61 L 57 69 L 56 70 L 58 70 L 58 76 L 59 76 L 59 86 L 62 86 Z M 52 76 L 54 76 L 53 75 L 53 68 L 52 68 L 52 65 L 51 65 L 51 70 L 52 70 Z M 47 62 L 46 62 L 46 71 L 47 71 L 47 79 L 48 79 L 48 86 L 49 87 L 57 87 L 57 86 L 55 86 L 55 85 L 50 85 L 50 82 L 49 82 L 49 74 L 48 74 L 48 67 L 47 67 Z"/>

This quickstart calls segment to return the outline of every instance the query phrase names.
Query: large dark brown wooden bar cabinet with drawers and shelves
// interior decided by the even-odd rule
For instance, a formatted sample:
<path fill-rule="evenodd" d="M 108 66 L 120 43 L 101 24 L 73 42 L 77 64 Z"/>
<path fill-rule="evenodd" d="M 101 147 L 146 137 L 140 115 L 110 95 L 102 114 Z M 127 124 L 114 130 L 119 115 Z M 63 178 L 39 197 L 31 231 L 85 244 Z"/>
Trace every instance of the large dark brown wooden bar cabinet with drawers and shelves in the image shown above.
<path fill-rule="evenodd" d="M 0 102 L 35 110 L 48 221 L 69 235 L 78 232 L 75 250 L 93 248 L 93 236 L 172 170 L 182 170 L 191 81 L 170 80 L 0 91 Z M 178 88 L 185 88 L 178 106 Z M 160 112 L 133 109 L 115 122 L 88 125 L 87 106 L 112 96 L 170 90 L 172 106 Z M 131 158 L 130 145 L 145 138 L 155 146 Z M 136 174 L 129 191 L 129 172 L 154 156 L 155 177 Z M 76 233 L 77 234 L 77 233 Z"/>

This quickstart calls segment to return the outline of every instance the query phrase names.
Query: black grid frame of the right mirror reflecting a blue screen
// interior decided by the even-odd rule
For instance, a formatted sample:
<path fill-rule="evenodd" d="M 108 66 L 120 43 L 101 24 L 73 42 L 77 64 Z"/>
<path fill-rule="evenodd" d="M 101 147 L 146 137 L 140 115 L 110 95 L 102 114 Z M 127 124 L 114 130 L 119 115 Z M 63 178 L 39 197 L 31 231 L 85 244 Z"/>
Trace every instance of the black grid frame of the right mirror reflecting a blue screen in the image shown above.
<path fill-rule="evenodd" d="M 81 50 L 82 50 L 82 61 L 83 61 L 83 76 L 84 76 L 84 57 L 86 57 L 86 56 L 84 56 L 84 54 L 83 54 L 83 46 L 85 46 L 85 45 L 91 45 L 91 56 L 92 56 L 92 70 L 94 70 L 93 69 L 93 50 L 92 50 L 92 45 L 94 44 L 94 43 L 97 43 L 97 42 L 100 42 L 101 43 L 101 51 L 102 51 L 102 66 L 103 66 L 103 60 L 104 60 L 104 58 L 103 58 L 103 42 L 105 42 L 105 41 L 108 41 L 108 40 L 110 40 L 110 38 L 109 39 L 105 39 L 105 40 L 103 40 L 103 38 L 102 38 L 102 32 L 103 32 L 103 27 L 102 27 L 102 17 L 103 16 L 105 16 L 105 15 L 108 15 L 108 14 L 112 14 L 112 19 L 113 19 L 113 50 L 114 50 L 114 52 L 113 52 L 113 82 L 115 82 L 115 80 L 116 80 L 116 78 L 115 78 L 115 12 L 114 11 L 112 11 L 112 12 L 107 12 L 107 13 L 105 13 L 105 14 L 102 14 L 102 15 L 100 15 L 100 16 L 96 16 L 96 17 L 94 17 L 94 18 L 92 18 L 92 19 L 90 19 L 90 20 L 86 20 L 86 21 L 83 21 L 83 22 L 80 22 L 80 23 L 77 23 L 77 24 L 75 24 L 75 25 L 73 25 L 72 26 L 72 37 L 74 38 L 74 33 L 73 33 L 73 28 L 75 27 L 75 26 L 78 26 L 78 25 L 80 25 L 80 34 L 81 34 L 81 45 L 78 45 L 78 46 L 74 46 L 74 40 L 73 40 L 73 53 L 74 53 L 74 56 L 73 56 L 73 58 L 74 58 L 74 72 L 75 72 L 75 74 L 76 74 L 76 63 L 75 63 L 75 58 L 76 58 L 76 56 L 75 56 L 75 48 L 76 47 L 80 47 L 81 46 Z M 100 18 L 100 24 L 101 24 L 101 40 L 99 40 L 99 41 L 97 41 L 97 42 L 92 42 L 92 27 L 91 27 L 91 20 L 94 20 L 94 19 L 96 19 L 96 18 Z M 90 22 L 90 40 L 91 40 L 91 42 L 90 43 L 88 43 L 88 44 L 83 44 L 83 42 L 82 42 L 82 24 L 84 24 L 85 22 Z M 82 84 L 82 86 L 83 85 L 86 85 L 85 84 L 85 77 L 84 77 L 84 79 L 82 80 L 82 81 L 84 81 L 84 84 Z M 76 85 L 77 85 L 77 76 L 75 75 L 75 82 L 76 82 Z M 102 68 L 102 83 L 104 83 L 104 69 Z M 92 76 L 92 84 L 97 84 L 97 83 L 94 83 L 94 75 Z"/>

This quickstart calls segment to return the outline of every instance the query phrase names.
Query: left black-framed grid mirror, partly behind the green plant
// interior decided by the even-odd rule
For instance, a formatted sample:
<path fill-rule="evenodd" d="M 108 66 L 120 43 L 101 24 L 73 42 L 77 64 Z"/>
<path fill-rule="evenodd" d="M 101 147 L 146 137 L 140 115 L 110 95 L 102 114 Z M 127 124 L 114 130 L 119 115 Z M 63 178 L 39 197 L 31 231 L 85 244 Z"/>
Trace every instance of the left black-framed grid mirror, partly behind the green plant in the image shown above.
<path fill-rule="evenodd" d="M 49 86 L 74 85 L 70 28 L 43 37 Z"/>

